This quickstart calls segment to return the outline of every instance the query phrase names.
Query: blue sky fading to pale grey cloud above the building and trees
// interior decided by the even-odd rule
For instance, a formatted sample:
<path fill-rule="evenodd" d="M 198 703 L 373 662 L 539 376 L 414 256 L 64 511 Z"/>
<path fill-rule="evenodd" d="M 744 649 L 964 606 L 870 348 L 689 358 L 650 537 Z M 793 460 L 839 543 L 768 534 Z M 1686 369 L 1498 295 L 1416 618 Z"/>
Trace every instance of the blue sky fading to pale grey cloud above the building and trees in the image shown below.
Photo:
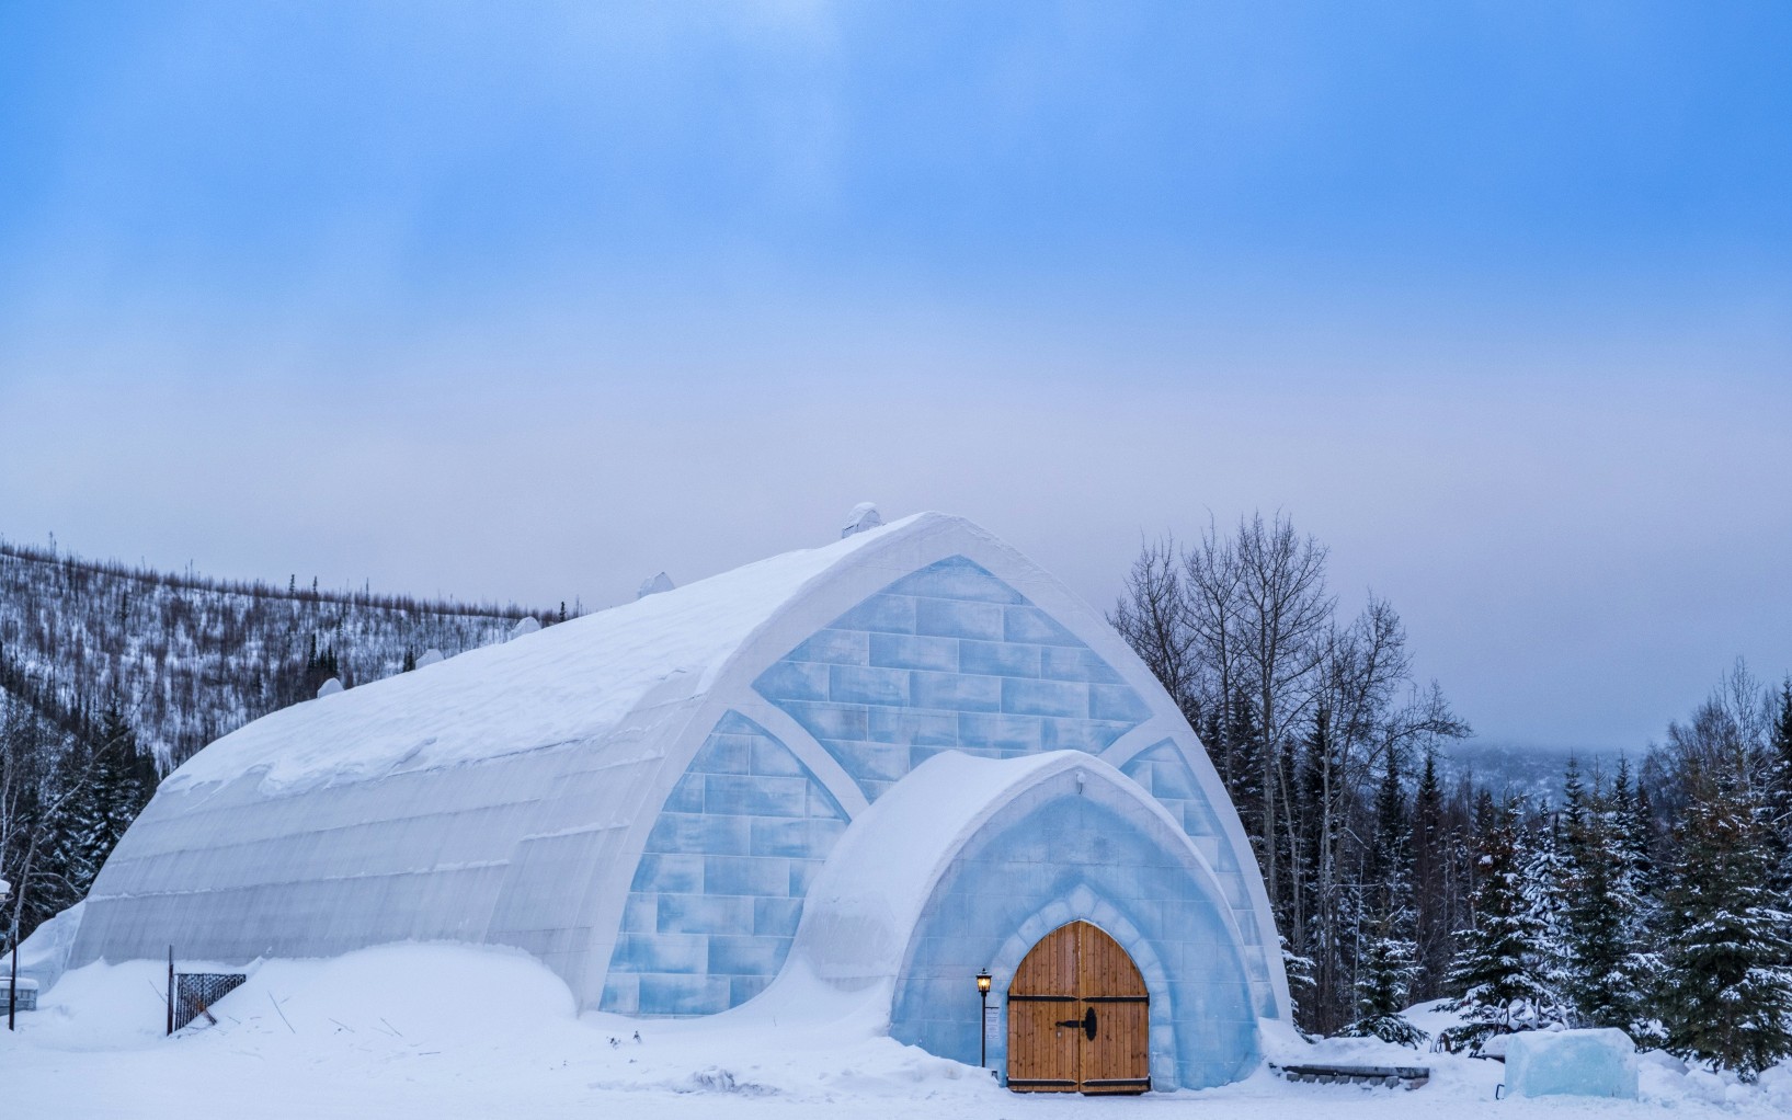
<path fill-rule="evenodd" d="M 1285 509 L 1487 738 L 1792 668 L 1781 4 L 0 2 L 0 534 L 586 604 Z"/>

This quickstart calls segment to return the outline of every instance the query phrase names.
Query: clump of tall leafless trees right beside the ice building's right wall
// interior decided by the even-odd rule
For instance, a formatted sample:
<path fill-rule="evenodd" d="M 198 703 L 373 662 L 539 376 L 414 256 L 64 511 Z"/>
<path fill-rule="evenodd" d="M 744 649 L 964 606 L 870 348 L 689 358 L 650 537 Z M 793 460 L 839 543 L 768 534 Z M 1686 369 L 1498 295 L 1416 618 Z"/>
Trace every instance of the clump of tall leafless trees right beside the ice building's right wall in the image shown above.
<path fill-rule="evenodd" d="M 1226 536 L 1210 521 L 1181 554 L 1168 538 L 1142 545 L 1111 615 L 1177 694 L 1233 794 L 1290 961 L 1310 966 L 1301 1007 L 1317 1029 L 1351 1018 L 1366 900 L 1378 900 L 1382 926 L 1407 921 L 1392 901 L 1405 887 L 1383 882 L 1391 857 L 1369 867 L 1387 831 L 1378 785 L 1409 772 L 1416 751 L 1468 733 L 1435 685 L 1412 688 L 1394 607 L 1371 595 L 1339 625 L 1324 575 L 1326 550 L 1287 518 L 1240 520 Z M 1435 787 L 1432 799 L 1441 815 Z M 1410 849 L 1392 858 L 1410 862 Z"/>

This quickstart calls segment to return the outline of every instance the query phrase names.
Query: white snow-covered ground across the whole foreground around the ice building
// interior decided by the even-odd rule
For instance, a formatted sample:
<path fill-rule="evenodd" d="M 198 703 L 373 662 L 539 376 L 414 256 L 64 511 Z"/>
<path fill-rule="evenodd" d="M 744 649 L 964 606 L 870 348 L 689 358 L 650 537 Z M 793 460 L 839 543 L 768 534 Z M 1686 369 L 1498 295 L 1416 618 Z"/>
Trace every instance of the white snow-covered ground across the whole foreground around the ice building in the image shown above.
<path fill-rule="evenodd" d="M 93 964 L 0 1030 L 0 1115 L 231 1116 L 1787 1116 L 1792 1070 L 1738 1086 L 1643 1059 L 1640 1102 L 1500 1100 L 1502 1066 L 1366 1039 L 1271 1039 L 1285 1063 L 1428 1064 L 1425 1088 L 1288 1084 L 1267 1070 L 1195 1093 L 1018 1097 L 971 1066 L 878 1038 L 867 1021 L 753 1004 L 711 1020 L 573 1014 L 521 953 L 448 944 L 271 961 L 215 1007 L 217 1027 L 161 1036 L 165 969 Z M 1450 1016 L 1421 1014 L 1435 1030 Z M 636 1032 L 640 1038 L 636 1038 Z"/>

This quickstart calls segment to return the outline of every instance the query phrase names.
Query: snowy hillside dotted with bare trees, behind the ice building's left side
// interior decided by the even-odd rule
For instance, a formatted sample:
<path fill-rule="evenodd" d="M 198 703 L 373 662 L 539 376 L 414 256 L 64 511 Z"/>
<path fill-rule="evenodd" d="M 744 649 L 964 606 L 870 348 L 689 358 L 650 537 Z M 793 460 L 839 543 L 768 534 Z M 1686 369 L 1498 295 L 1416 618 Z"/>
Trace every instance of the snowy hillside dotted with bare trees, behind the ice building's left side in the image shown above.
<path fill-rule="evenodd" d="M 443 654 L 502 642 L 516 604 L 319 591 L 289 581 L 170 575 L 0 541 L 0 692 L 52 726 L 116 702 L 163 763 L 315 695 L 337 676 L 362 685 Z"/>

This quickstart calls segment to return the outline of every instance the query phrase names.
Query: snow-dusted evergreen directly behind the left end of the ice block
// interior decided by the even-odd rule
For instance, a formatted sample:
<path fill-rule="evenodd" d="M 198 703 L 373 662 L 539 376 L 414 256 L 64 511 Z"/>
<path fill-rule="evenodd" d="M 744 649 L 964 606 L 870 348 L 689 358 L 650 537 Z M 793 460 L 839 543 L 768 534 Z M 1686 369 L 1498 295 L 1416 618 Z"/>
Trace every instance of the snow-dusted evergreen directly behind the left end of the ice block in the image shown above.
<path fill-rule="evenodd" d="M 1557 995 L 1543 975 L 1543 930 L 1525 898 L 1521 812 L 1511 801 L 1480 833 L 1475 925 L 1460 932 L 1450 969 L 1450 984 L 1460 993 L 1453 1007 L 1469 1020 L 1462 1038 L 1475 1050 L 1493 1034 L 1559 1020 Z"/>

